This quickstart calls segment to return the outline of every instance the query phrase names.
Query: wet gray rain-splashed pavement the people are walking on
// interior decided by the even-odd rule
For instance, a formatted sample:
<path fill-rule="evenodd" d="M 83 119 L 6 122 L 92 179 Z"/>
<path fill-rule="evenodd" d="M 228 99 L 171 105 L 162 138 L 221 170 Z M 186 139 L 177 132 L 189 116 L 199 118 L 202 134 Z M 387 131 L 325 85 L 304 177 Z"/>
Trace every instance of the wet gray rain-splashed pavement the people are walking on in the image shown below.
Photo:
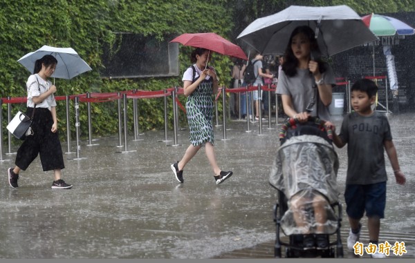
<path fill-rule="evenodd" d="M 407 184 L 394 182 L 387 160 L 387 208 L 380 242 L 405 242 L 405 257 L 414 257 L 415 118 L 405 113 L 389 115 L 389 121 Z M 335 117 L 334 123 L 340 125 L 341 117 Z M 136 151 L 124 153 L 118 135 L 94 138 L 98 145 L 93 146 L 82 141 L 84 159 L 76 159 L 75 153 L 64 155 L 63 179 L 74 185 L 71 190 L 51 189 L 53 173 L 42 171 L 39 158 L 21 172 L 19 188 L 10 188 L 7 168 L 13 166 L 15 155 L 4 155 L 0 258 L 273 257 L 277 192 L 268 184 L 268 176 L 279 146 L 279 126 L 273 123 L 268 129 L 264 121 L 262 135 L 258 123 L 250 125 L 250 133 L 245 121 L 229 121 L 226 127 L 227 140 L 223 140 L 223 126 L 215 126 L 216 157 L 219 166 L 234 175 L 219 186 L 204 148 L 185 167 L 185 183 L 176 181 L 170 164 L 185 153 L 188 130 L 178 130 L 179 146 L 163 142 L 163 130 L 146 132 L 139 136 L 142 140 L 129 137 L 127 149 Z M 173 139 L 172 130 L 168 138 Z M 66 144 L 62 148 L 65 151 Z M 336 150 L 338 183 L 344 191 L 347 152 Z M 340 202 L 344 203 L 342 196 Z M 344 237 L 348 227 L 344 220 Z M 362 242 L 368 242 L 365 232 Z M 252 252 L 258 249 L 260 254 Z M 345 257 L 353 255 L 345 253 Z"/>

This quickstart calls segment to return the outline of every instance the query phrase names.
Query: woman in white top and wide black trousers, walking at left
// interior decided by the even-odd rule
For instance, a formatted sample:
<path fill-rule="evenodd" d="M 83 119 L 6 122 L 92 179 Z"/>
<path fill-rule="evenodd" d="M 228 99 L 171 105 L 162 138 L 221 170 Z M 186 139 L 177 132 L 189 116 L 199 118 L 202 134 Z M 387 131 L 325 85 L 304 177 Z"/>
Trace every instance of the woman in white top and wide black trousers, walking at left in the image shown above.
<path fill-rule="evenodd" d="M 65 166 L 57 133 L 56 101 L 53 96 L 57 89 L 48 81 L 56 65 L 57 60 L 52 55 L 37 59 L 34 74 L 30 75 L 26 83 L 28 90 L 26 115 L 31 116 L 35 111 L 31 126 L 33 135 L 28 136 L 17 150 L 15 168 L 8 168 L 8 181 L 12 188 L 18 187 L 19 172 L 26 171 L 37 155 L 40 155 L 43 170 L 54 172 L 53 189 L 72 187 L 61 179 L 62 169 Z"/>

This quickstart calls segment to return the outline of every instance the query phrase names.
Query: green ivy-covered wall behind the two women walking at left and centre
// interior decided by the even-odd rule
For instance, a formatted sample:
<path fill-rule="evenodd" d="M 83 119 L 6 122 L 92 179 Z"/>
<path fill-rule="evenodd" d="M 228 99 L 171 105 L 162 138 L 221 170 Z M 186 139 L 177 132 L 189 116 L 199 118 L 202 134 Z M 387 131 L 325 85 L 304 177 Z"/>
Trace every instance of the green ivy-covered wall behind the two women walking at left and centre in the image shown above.
<path fill-rule="evenodd" d="M 226 37 L 233 26 L 227 1 L 117 1 L 117 0 L 0 0 L 0 97 L 26 95 L 26 80 L 30 72 L 17 60 L 43 45 L 71 47 L 93 69 L 71 80 L 55 79 L 56 95 L 76 95 L 85 92 L 117 92 L 122 90 L 163 90 L 181 86 L 181 76 L 143 79 L 103 79 L 102 45 L 116 40 L 115 32 L 131 32 L 152 36 L 161 41 L 165 35 L 184 32 L 216 32 Z M 190 64 L 191 48 L 181 48 L 180 65 Z M 230 75 L 230 59 L 216 56 L 215 67 L 221 75 Z M 225 81 L 226 79 L 223 79 Z M 185 101 L 184 97 L 180 98 Z M 140 129 L 164 128 L 163 100 L 140 100 Z M 24 108 L 24 105 L 13 105 Z M 170 105 L 169 105 L 170 106 Z M 66 139 L 64 101 L 58 102 L 59 130 Z M 80 105 L 82 135 L 88 135 L 86 105 Z M 3 105 L 3 116 L 7 116 Z M 71 110 L 73 104 L 71 104 Z M 132 118 L 132 109 L 131 111 Z M 93 104 L 94 136 L 118 133 L 116 104 Z M 73 117 L 72 117 L 73 118 Z M 172 119 L 172 110 L 169 110 Z M 3 118 L 5 119 L 5 118 Z M 183 121 L 183 119 L 182 119 Z M 74 120 L 71 120 L 74 123 Z M 3 126 L 7 121 L 3 122 Z M 75 131 L 73 128 L 72 132 Z"/>

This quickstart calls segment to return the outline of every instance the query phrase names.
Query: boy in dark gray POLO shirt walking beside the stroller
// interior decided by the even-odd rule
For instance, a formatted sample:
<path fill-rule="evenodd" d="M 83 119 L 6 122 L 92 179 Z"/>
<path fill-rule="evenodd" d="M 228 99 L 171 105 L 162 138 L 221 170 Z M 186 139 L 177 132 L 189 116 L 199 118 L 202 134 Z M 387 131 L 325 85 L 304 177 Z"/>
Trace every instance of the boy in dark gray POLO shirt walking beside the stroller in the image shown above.
<path fill-rule="evenodd" d="M 369 79 L 360 79 L 351 87 L 353 113 L 345 116 L 340 135 L 334 133 L 333 143 L 338 148 L 347 144 L 348 167 L 344 200 L 350 231 L 347 247 L 356 249 L 360 237 L 360 219 L 366 211 L 369 243 L 376 245 L 371 257 L 383 258 L 378 248 L 380 218 L 385 217 L 386 181 L 384 148 L 394 169 L 396 183 L 405 184 L 400 171 L 396 148 L 392 142 L 389 122 L 385 115 L 371 109 L 376 101 L 378 86 Z M 369 245 L 371 245 L 369 244 Z"/>

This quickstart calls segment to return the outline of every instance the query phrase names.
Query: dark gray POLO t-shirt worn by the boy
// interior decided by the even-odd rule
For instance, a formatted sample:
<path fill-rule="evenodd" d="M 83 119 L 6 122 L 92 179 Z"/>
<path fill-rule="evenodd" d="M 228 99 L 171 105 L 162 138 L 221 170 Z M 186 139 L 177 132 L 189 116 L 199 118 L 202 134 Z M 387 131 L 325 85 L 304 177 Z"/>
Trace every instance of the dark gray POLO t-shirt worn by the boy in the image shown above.
<path fill-rule="evenodd" d="M 339 136 L 347 143 L 346 184 L 387 181 L 383 143 L 391 141 L 392 135 L 385 115 L 376 111 L 369 117 L 358 113 L 346 115 Z"/>

